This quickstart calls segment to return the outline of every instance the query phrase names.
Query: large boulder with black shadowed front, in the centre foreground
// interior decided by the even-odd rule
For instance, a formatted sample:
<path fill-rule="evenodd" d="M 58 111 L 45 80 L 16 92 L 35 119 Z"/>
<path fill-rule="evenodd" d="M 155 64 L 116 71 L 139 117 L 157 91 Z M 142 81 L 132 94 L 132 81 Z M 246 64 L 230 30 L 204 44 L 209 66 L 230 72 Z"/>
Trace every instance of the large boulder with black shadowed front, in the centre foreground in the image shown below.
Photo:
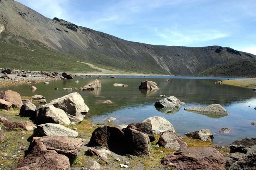
<path fill-rule="evenodd" d="M 92 133 L 89 146 L 108 147 L 118 154 L 144 156 L 150 154 L 150 140 L 148 135 L 131 128 L 98 127 Z"/>

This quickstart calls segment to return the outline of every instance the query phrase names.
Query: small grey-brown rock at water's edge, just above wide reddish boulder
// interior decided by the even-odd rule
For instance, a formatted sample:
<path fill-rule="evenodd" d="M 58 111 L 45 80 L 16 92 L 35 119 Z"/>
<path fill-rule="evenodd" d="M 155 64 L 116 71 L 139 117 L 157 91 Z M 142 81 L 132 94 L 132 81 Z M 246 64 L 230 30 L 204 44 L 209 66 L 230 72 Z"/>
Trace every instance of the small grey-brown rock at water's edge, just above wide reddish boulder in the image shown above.
<path fill-rule="evenodd" d="M 213 134 L 210 129 L 202 129 L 199 131 L 185 133 L 186 136 L 192 137 L 193 139 L 200 139 L 202 141 L 212 141 Z"/>

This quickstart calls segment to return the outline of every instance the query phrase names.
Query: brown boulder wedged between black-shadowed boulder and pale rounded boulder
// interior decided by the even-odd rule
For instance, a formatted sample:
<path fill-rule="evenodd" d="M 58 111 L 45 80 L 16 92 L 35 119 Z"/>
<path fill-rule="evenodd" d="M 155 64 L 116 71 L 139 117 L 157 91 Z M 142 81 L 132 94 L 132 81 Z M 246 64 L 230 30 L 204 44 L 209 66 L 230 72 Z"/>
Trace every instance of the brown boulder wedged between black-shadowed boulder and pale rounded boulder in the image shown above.
<path fill-rule="evenodd" d="M 148 122 L 142 122 L 142 123 L 130 123 L 127 128 L 135 129 L 139 132 L 142 132 L 146 135 L 148 135 L 150 142 L 153 142 L 156 140 L 155 135 L 152 130 L 151 123 Z"/>

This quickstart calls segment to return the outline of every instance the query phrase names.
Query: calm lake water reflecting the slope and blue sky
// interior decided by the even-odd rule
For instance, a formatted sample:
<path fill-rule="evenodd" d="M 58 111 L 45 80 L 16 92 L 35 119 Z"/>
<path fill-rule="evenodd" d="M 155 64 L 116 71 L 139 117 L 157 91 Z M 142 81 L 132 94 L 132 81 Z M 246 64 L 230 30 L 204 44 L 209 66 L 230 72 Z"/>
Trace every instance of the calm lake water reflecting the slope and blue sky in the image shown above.
<path fill-rule="evenodd" d="M 30 90 L 30 85 L 9 87 L 21 96 L 40 94 L 50 100 L 60 98 L 71 92 L 78 92 L 85 104 L 90 108 L 88 119 L 93 123 L 105 123 L 108 117 L 116 117 L 113 124 L 129 124 L 142 122 L 148 117 L 162 116 L 166 118 L 177 133 L 184 133 L 200 129 L 210 129 L 214 134 L 214 144 L 224 145 L 245 137 L 256 137 L 256 127 L 251 123 L 256 121 L 256 92 L 248 88 L 214 84 L 218 80 L 227 78 L 180 77 L 180 76 L 116 76 L 110 78 L 102 76 L 102 88 L 93 91 L 66 91 L 62 88 L 86 85 L 97 77 L 74 77 L 72 80 L 51 81 L 50 84 L 35 84 L 36 90 Z M 170 82 L 165 82 L 170 79 Z M 78 83 L 75 81 L 79 80 Z M 140 90 L 142 81 L 149 80 L 157 83 L 160 90 Z M 114 83 L 127 84 L 128 87 L 113 86 Z M 59 90 L 53 90 L 59 88 Z M 6 90 L 6 89 L 2 89 Z M 158 111 L 154 104 L 162 99 L 160 95 L 175 96 L 185 102 L 176 111 Z M 101 104 L 111 100 L 112 104 Z M 206 115 L 185 111 L 185 107 L 222 105 L 230 115 L 224 117 L 209 117 Z M 217 133 L 221 128 L 232 129 L 229 134 Z"/>

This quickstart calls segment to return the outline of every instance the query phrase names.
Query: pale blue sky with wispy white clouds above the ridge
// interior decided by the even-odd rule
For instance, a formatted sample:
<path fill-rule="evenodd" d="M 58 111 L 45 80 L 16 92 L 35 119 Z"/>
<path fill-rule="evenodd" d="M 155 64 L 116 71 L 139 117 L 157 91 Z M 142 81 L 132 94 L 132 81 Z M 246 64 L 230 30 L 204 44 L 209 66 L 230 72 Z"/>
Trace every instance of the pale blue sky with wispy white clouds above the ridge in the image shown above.
<path fill-rule="evenodd" d="M 256 55 L 255 0 L 16 0 L 47 18 L 152 45 Z"/>

